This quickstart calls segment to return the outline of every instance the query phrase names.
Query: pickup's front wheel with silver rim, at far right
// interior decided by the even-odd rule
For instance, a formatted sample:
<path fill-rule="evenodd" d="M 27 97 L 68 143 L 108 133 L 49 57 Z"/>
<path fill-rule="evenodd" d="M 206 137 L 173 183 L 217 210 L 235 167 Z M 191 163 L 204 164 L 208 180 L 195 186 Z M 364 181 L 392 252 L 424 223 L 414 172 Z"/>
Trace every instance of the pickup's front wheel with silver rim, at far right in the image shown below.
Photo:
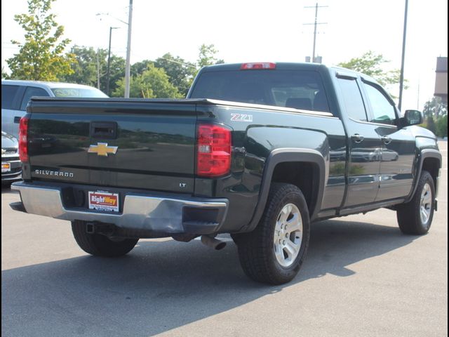
<path fill-rule="evenodd" d="M 434 179 L 429 172 L 422 171 L 413 199 L 398 206 L 396 214 L 399 228 L 404 234 L 426 234 L 434 218 L 434 207 Z"/>

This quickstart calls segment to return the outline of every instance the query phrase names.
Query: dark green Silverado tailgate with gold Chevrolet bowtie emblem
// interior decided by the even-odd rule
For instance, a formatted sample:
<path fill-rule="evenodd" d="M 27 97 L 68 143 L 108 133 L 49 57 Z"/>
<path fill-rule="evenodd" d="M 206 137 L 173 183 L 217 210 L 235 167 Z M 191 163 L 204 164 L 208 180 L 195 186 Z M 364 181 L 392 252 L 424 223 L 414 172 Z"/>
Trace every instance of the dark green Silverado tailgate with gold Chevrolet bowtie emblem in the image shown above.
<path fill-rule="evenodd" d="M 196 105 L 184 100 L 33 100 L 33 180 L 192 193 Z"/>

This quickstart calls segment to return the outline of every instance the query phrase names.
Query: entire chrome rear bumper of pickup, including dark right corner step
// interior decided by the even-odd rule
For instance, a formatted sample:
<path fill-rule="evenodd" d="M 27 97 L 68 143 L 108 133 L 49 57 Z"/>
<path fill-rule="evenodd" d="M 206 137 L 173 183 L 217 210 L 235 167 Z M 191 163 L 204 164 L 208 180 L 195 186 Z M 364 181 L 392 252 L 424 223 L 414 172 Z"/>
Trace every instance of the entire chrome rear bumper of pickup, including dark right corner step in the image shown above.
<path fill-rule="evenodd" d="M 96 187 L 93 187 L 96 188 Z M 161 233 L 212 234 L 225 221 L 227 199 L 177 199 L 152 195 L 126 194 L 121 213 L 66 208 L 62 189 L 33 183 L 14 183 L 27 213 L 61 220 L 109 223 L 130 230 Z M 13 205 L 11 205 L 13 207 Z M 19 209 L 17 203 L 13 209 Z"/>

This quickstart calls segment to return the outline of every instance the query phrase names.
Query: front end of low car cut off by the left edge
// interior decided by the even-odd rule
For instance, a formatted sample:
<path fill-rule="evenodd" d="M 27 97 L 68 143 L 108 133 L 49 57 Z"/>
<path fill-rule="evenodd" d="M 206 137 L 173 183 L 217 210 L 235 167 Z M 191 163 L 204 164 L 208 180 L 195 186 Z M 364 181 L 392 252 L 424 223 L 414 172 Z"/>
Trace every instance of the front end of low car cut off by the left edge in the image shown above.
<path fill-rule="evenodd" d="M 17 138 L 1 131 L 1 185 L 22 179 Z"/>

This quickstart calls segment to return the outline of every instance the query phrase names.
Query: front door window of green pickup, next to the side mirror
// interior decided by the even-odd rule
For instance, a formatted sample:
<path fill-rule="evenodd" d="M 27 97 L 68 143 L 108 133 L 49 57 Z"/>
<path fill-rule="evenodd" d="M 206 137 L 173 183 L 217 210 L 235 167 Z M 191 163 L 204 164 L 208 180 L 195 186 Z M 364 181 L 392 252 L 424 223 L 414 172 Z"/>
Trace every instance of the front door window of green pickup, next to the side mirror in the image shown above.
<path fill-rule="evenodd" d="M 365 88 L 366 95 L 368 95 L 373 112 L 373 119 L 371 121 L 373 123 L 394 125 L 396 121 L 394 106 L 385 97 L 384 93 L 368 83 L 363 83 L 363 88 Z"/>

